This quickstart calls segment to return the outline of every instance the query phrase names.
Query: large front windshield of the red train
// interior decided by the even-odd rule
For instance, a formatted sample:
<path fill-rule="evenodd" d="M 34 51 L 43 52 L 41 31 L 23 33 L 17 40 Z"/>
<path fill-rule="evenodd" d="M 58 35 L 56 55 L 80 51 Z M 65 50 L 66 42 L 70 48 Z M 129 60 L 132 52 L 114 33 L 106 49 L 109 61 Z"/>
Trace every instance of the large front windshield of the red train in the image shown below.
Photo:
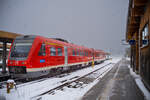
<path fill-rule="evenodd" d="M 26 58 L 32 43 L 14 43 L 11 49 L 11 58 Z"/>

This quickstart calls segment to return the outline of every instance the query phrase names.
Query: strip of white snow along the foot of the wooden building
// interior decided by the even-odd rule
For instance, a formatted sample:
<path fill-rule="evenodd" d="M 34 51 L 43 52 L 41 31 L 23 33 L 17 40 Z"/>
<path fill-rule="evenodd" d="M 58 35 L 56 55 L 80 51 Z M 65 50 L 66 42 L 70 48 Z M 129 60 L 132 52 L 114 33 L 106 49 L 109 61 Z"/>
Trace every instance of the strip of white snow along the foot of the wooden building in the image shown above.
<path fill-rule="evenodd" d="M 132 71 L 132 68 L 130 67 L 130 65 L 128 66 L 128 68 L 130 69 L 130 74 L 134 77 L 135 82 L 137 84 L 137 86 L 140 88 L 140 90 L 143 92 L 146 100 L 150 100 L 150 92 L 146 89 L 146 87 L 144 86 L 140 75 L 137 75 L 135 72 Z"/>

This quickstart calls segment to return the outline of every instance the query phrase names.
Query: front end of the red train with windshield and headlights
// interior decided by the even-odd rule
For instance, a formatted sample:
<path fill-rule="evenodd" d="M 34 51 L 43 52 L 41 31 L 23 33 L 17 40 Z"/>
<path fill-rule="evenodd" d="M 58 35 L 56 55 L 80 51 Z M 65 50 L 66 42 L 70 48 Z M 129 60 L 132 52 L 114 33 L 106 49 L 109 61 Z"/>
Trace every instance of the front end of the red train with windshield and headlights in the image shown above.
<path fill-rule="evenodd" d="M 14 40 L 7 63 L 10 75 L 27 74 L 34 39 L 35 36 L 19 36 Z"/>

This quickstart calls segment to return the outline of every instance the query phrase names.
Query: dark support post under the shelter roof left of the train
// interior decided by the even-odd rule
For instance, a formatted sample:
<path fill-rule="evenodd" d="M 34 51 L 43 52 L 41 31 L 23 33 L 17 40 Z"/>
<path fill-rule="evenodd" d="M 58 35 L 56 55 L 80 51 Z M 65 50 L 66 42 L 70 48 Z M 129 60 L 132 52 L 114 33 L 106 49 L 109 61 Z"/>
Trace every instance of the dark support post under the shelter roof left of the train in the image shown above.
<path fill-rule="evenodd" d="M 7 53 L 7 43 L 3 42 L 3 56 L 2 56 L 2 60 L 3 60 L 3 64 L 2 64 L 2 73 L 5 74 L 6 73 L 6 53 Z"/>

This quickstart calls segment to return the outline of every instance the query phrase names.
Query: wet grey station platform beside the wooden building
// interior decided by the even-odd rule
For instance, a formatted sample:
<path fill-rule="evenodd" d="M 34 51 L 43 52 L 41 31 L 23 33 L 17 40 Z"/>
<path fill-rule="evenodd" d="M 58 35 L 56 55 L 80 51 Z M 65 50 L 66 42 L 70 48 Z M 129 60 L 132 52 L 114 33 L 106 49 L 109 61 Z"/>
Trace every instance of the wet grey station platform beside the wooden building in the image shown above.
<path fill-rule="evenodd" d="M 144 100 L 141 90 L 130 75 L 129 62 L 122 59 L 82 100 Z"/>

